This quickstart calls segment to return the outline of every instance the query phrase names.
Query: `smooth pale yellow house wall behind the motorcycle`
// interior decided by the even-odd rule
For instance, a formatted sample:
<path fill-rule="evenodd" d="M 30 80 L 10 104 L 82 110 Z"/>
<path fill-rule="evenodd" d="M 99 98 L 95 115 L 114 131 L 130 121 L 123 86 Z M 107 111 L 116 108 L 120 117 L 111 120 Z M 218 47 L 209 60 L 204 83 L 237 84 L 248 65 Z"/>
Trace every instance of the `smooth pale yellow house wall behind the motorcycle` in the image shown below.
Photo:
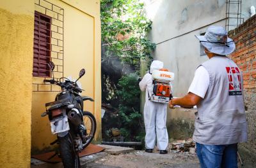
<path fill-rule="evenodd" d="M 42 3 L 44 0 L 40 0 Z M 48 0 L 63 8 L 63 76 L 77 78 L 79 70 L 86 69 L 86 74 L 79 80 L 85 90 L 82 95 L 88 95 L 95 102 L 86 102 L 85 110 L 91 111 L 97 120 L 95 141 L 101 140 L 101 85 L 100 85 L 100 3 L 93 1 Z M 44 12 L 51 8 L 49 4 L 35 1 L 35 10 Z M 62 11 L 61 11 L 62 12 Z M 49 15 L 52 15 L 49 13 Z M 51 17 L 55 17 L 52 15 Z M 58 24 L 58 23 L 57 23 Z M 53 34 L 52 34 L 53 35 Z M 59 34 L 60 35 L 60 34 Z M 58 37 L 57 37 L 58 38 Z M 61 37 L 59 37 L 62 39 Z M 62 74 L 56 74 L 61 76 Z M 55 75 L 54 75 L 55 76 Z M 33 83 L 44 84 L 44 78 L 33 78 Z M 36 90 L 36 85 L 33 85 Z M 58 89 L 58 88 L 54 88 Z M 40 85 L 40 90 L 49 90 L 49 86 Z M 40 91 L 39 90 L 39 91 Z M 51 148 L 49 143 L 56 139 L 52 136 L 49 120 L 40 114 L 45 111 L 45 102 L 54 101 L 57 92 L 33 92 L 32 101 L 32 153 L 40 153 Z"/>

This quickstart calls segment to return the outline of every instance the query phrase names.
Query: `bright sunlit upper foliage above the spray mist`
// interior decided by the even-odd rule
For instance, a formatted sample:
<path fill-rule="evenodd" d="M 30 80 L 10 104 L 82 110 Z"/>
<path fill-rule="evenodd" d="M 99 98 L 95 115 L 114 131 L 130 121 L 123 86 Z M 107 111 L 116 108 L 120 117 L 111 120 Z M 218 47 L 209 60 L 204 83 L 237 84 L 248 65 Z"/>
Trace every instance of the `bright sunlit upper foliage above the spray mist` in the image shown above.
<path fill-rule="evenodd" d="M 101 36 L 108 46 L 105 57 L 117 56 L 139 68 L 140 59 L 150 57 L 155 44 L 147 38 L 152 22 L 138 0 L 101 0 Z"/>

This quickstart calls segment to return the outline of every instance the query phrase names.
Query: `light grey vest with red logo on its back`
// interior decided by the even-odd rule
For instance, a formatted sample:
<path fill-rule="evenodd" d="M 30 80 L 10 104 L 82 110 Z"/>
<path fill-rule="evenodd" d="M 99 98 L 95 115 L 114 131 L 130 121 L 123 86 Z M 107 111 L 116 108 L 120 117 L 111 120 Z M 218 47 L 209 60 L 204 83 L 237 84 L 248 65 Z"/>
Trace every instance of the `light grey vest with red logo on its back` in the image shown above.
<path fill-rule="evenodd" d="M 243 101 L 243 74 L 228 57 L 204 62 L 210 83 L 195 114 L 194 141 L 201 144 L 234 144 L 247 141 Z"/>

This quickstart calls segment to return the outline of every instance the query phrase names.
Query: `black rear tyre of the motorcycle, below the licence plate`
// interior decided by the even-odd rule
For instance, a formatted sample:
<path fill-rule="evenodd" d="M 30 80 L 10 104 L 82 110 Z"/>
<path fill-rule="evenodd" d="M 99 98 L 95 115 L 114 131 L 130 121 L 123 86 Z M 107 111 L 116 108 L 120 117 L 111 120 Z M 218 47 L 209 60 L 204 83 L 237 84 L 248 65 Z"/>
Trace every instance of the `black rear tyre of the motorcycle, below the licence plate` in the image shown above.
<path fill-rule="evenodd" d="M 58 137 L 60 143 L 60 155 L 65 168 L 80 168 L 78 152 L 74 148 L 74 141 L 70 133 L 64 137 Z"/>

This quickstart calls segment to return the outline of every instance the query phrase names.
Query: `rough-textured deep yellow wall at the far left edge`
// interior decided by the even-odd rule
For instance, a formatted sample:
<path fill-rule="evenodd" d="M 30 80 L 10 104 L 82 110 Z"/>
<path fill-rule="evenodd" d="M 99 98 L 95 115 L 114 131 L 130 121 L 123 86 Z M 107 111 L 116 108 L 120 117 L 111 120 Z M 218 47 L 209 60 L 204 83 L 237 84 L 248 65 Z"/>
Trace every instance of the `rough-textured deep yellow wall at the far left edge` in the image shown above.
<path fill-rule="evenodd" d="M 0 1 L 0 167 L 30 167 L 33 3 Z"/>

